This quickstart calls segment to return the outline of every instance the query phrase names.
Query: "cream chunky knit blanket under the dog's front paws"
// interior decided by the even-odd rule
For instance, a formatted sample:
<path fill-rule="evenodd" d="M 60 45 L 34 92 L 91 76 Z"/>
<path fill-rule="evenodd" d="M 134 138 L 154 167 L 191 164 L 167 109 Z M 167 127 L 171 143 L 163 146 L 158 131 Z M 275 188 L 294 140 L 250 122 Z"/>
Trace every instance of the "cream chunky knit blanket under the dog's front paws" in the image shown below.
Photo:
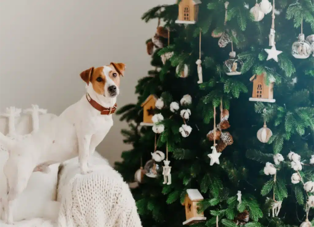
<path fill-rule="evenodd" d="M 74 168 L 79 173 L 79 168 Z M 63 184 L 65 189 L 59 188 L 62 205 L 58 226 L 141 227 L 135 201 L 121 175 L 108 165 L 92 169 L 86 175 L 76 174 Z M 62 175 L 68 171 L 73 174 L 73 165 L 65 165 Z"/>

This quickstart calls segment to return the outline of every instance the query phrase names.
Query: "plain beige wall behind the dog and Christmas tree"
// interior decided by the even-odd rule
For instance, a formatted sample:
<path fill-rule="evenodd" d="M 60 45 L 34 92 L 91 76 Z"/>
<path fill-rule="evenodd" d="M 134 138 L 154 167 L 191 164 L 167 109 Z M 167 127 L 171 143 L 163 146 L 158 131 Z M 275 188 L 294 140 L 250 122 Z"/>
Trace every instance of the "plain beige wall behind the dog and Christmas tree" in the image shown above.
<path fill-rule="evenodd" d="M 151 68 L 145 41 L 157 21 L 145 24 L 147 9 L 170 0 L 0 1 L 0 111 L 38 104 L 60 114 L 84 94 L 79 73 L 111 61 L 127 65 L 118 106 L 136 102 L 137 80 Z M 120 159 L 120 130 L 114 126 L 98 147 L 110 163 Z"/>

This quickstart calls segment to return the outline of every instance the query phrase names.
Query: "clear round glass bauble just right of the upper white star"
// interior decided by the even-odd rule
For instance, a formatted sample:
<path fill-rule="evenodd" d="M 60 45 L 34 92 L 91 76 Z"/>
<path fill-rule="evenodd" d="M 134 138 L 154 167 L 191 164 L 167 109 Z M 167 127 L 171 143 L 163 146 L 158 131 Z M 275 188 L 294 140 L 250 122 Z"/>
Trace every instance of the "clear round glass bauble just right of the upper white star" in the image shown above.
<path fill-rule="evenodd" d="M 304 34 L 299 34 L 298 40 L 292 44 L 291 52 L 293 57 L 305 59 L 312 53 L 311 44 L 304 39 Z"/>

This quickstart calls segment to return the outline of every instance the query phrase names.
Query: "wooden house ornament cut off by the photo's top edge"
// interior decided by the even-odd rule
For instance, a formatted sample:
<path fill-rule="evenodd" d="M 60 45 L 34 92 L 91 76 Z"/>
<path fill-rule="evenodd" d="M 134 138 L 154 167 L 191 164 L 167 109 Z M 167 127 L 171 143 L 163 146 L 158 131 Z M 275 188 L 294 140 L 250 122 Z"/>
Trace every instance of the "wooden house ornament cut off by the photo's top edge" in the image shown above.
<path fill-rule="evenodd" d="M 177 24 L 195 24 L 198 18 L 198 5 L 200 0 L 181 0 L 179 3 L 179 16 Z"/>

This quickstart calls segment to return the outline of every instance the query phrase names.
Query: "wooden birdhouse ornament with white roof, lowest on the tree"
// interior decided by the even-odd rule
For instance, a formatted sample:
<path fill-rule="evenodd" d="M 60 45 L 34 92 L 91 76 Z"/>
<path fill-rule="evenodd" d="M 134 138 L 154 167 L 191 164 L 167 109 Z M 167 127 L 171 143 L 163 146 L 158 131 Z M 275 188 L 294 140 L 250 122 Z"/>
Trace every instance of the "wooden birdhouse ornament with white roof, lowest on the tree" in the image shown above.
<path fill-rule="evenodd" d="M 198 203 L 203 201 L 203 199 L 203 196 L 197 189 L 187 189 L 184 203 L 182 203 L 182 205 L 185 206 L 185 215 L 187 220 L 182 224 L 190 225 L 206 220 L 206 217 L 204 217 L 204 212 L 198 213 L 198 210 L 200 209 Z"/>

